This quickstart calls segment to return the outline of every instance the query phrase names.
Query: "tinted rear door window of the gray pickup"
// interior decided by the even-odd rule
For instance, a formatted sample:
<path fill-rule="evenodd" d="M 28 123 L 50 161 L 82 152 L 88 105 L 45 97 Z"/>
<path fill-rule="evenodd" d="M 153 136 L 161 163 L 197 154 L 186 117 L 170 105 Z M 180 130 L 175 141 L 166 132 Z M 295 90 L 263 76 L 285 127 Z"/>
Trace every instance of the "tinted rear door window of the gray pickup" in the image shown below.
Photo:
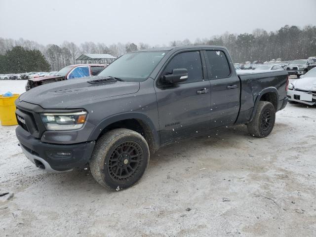
<path fill-rule="evenodd" d="M 227 78 L 230 74 L 229 63 L 223 51 L 206 51 L 211 79 Z"/>

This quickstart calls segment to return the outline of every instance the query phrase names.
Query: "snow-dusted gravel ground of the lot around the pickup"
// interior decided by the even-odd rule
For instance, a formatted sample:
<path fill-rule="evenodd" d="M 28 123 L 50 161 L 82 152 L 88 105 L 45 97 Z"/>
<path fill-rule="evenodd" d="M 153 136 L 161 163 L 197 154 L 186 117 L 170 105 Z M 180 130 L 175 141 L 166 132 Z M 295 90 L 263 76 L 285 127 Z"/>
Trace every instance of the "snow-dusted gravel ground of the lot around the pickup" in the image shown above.
<path fill-rule="evenodd" d="M 0 94 L 25 83 L 0 81 Z M 239 125 L 163 147 L 121 192 L 88 169 L 39 170 L 0 126 L 0 236 L 316 236 L 315 120 L 288 104 L 267 138 Z"/>

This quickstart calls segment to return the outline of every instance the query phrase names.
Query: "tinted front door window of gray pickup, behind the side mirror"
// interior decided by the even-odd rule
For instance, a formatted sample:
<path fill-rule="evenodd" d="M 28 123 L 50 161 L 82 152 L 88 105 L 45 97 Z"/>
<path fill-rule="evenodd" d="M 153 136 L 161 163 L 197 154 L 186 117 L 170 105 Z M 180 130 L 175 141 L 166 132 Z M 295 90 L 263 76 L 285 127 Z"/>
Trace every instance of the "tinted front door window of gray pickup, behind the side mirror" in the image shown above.
<path fill-rule="evenodd" d="M 186 68 L 189 77 L 182 83 L 201 81 L 203 79 L 201 57 L 198 51 L 179 53 L 174 56 L 164 69 L 162 75 L 172 74 L 173 69 Z"/>

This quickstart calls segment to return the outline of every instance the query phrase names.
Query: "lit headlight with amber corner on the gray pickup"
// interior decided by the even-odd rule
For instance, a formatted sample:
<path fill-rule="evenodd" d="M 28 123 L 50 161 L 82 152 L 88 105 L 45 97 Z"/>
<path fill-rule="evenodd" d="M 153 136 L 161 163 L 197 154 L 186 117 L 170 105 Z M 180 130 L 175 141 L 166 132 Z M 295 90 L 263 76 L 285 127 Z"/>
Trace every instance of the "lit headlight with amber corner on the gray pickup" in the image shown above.
<path fill-rule="evenodd" d="M 47 130 L 75 130 L 83 126 L 87 112 L 44 113 L 40 117 Z"/>

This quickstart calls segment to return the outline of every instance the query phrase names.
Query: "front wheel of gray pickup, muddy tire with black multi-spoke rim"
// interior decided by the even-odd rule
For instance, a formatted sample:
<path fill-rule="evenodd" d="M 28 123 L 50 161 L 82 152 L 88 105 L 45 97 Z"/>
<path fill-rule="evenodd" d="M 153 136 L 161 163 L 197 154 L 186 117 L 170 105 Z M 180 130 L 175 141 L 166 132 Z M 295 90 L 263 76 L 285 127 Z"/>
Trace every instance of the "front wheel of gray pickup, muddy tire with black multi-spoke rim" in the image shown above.
<path fill-rule="evenodd" d="M 124 144 L 132 144 L 130 145 L 131 149 L 133 149 L 133 146 L 137 149 L 132 150 L 130 152 L 132 155 L 129 156 L 128 150 L 123 151 L 124 148 L 128 147 L 128 145 L 124 146 Z M 135 170 L 133 170 L 132 165 L 135 165 L 136 162 L 133 160 L 133 157 L 137 156 L 137 154 L 139 155 L 137 158 L 140 161 L 137 163 L 137 167 L 134 167 Z M 121 160 L 121 156 L 129 156 L 129 163 L 125 164 L 126 159 L 123 158 L 123 160 Z M 97 140 L 92 152 L 90 170 L 93 178 L 103 187 L 109 190 L 120 191 L 131 187 L 140 180 L 148 166 L 149 158 L 149 147 L 141 134 L 125 128 L 113 129 Z M 119 165 L 116 165 L 117 163 Z M 122 165 L 128 164 L 130 165 L 128 168 L 126 166 L 121 167 Z M 122 179 L 119 178 L 122 176 L 122 172 L 120 172 L 121 169 L 124 169 L 123 173 L 131 176 Z M 133 173 L 129 174 L 129 171 Z M 116 172 L 118 172 L 118 174 L 116 174 Z M 121 173 L 120 175 L 119 172 Z M 119 177 L 117 177 L 117 175 Z"/>

